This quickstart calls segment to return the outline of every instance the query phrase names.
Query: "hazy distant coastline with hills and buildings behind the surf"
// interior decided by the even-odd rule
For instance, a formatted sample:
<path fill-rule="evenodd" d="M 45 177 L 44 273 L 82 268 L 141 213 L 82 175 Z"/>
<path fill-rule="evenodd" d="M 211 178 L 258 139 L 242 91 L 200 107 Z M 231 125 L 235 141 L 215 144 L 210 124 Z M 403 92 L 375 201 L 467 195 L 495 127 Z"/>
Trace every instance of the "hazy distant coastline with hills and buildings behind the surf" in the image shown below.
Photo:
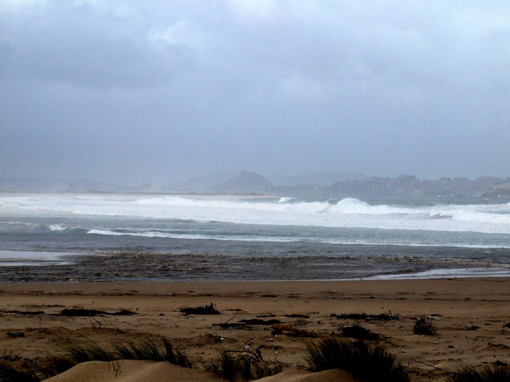
<path fill-rule="evenodd" d="M 306 175 L 306 174 L 305 174 Z M 301 200 L 466 198 L 510 200 L 510 177 L 480 176 L 419 179 L 414 175 L 366 177 L 362 174 L 317 173 L 300 177 L 271 178 L 243 171 L 193 178 L 175 183 L 135 182 L 128 185 L 89 179 L 28 179 L 0 177 L 3 193 L 87 193 L 155 195 L 223 195 L 293 197 Z"/>

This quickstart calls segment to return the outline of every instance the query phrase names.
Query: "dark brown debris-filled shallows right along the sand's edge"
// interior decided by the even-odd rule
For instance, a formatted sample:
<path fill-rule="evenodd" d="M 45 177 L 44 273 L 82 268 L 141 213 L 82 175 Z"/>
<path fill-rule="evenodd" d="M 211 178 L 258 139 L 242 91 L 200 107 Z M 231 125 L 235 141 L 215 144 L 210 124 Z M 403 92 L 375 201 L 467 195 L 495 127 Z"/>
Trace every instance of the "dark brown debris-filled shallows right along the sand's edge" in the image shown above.
<path fill-rule="evenodd" d="M 504 263 L 415 256 L 0 250 L 0 282 L 351 281 L 510 277 Z M 284 268 L 282 268 L 284 267 Z M 131 269 L 137 269 L 132 271 Z"/>

